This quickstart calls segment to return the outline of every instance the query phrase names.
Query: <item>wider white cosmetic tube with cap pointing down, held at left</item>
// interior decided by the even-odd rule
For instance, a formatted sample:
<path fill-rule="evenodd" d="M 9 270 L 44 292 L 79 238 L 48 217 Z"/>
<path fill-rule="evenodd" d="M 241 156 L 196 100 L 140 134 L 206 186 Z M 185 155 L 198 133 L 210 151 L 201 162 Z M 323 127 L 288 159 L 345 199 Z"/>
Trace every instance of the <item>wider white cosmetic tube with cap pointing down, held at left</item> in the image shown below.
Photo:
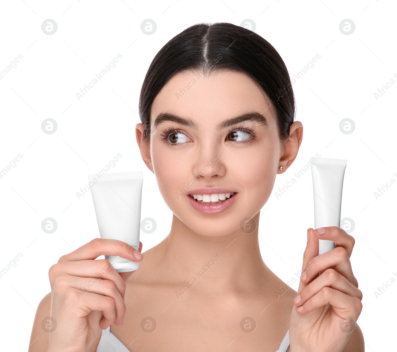
<path fill-rule="evenodd" d="M 139 249 L 143 172 L 88 175 L 101 238 L 120 240 Z M 139 262 L 105 255 L 118 273 L 138 269 Z"/>

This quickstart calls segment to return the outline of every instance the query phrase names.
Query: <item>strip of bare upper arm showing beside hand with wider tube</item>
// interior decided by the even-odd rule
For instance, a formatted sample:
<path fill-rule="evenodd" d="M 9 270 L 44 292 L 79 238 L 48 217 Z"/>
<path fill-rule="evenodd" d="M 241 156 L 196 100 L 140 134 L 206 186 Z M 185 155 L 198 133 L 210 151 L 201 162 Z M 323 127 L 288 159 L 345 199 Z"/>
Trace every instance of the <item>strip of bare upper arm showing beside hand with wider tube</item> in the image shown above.
<path fill-rule="evenodd" d="M 37 307 L 35 320 L 33 321 L 32 333 L 30 335 L 29 352 L 42 352 L 48 349 L 49 335 L 41 324 L 51 313 L 51 292 L 46 294 Z"/>

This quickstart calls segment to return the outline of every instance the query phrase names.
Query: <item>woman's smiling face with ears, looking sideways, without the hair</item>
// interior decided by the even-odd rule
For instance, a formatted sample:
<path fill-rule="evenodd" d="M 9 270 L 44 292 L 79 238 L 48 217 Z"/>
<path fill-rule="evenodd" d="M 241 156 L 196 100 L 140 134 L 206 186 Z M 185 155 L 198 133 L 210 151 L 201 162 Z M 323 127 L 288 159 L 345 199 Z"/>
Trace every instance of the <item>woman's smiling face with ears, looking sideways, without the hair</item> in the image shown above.
<path fill-rule="evenodd" d="M 150 124 L 150 145 L 137 125 L 142 157 L 171 211 L 205 236 L 231 234 L 260 211 L 301 139 L 295 131 L 295 141 L 281 142 L 269 99 L 237 72 L 174 75 L 152 104 Z"/>

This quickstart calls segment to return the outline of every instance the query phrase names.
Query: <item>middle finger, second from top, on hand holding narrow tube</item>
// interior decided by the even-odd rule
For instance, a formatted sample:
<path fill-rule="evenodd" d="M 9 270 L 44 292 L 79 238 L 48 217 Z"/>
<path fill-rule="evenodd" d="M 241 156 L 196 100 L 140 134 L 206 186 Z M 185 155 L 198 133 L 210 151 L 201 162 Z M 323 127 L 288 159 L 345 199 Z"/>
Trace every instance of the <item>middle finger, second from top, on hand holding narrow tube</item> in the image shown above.
<path fill-rule="evenodd" d="M 315 265 L 308 267 L 307 270 L 302 273 L 301 280 L 303 282 L 309 283 L 312 279 L 317 277 L 319 271 L 333 268 L 354 286 L 358 287 L 358 282 L 353 275 L 350 259 L 345 248 L 335 247 L 330 251 L 314 257 L 313 262 Z"/>

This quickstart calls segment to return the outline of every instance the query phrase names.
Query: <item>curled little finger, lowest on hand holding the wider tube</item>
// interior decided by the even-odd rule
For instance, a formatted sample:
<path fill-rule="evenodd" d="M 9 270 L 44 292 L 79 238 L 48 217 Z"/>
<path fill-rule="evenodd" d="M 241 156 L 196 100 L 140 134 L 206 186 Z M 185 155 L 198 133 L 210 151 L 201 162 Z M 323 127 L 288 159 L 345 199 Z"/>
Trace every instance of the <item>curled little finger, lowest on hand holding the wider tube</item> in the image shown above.
<path fill-rule="evenodd" d="M 116 306 L 112 297 L 87 292 L 81 297 L 81 303 L 82 317 L 87 316 L 93 310 L 102 311 L 103 317 L 99 322 L 102 329 L 107 329 L 116 319 Z"/>

